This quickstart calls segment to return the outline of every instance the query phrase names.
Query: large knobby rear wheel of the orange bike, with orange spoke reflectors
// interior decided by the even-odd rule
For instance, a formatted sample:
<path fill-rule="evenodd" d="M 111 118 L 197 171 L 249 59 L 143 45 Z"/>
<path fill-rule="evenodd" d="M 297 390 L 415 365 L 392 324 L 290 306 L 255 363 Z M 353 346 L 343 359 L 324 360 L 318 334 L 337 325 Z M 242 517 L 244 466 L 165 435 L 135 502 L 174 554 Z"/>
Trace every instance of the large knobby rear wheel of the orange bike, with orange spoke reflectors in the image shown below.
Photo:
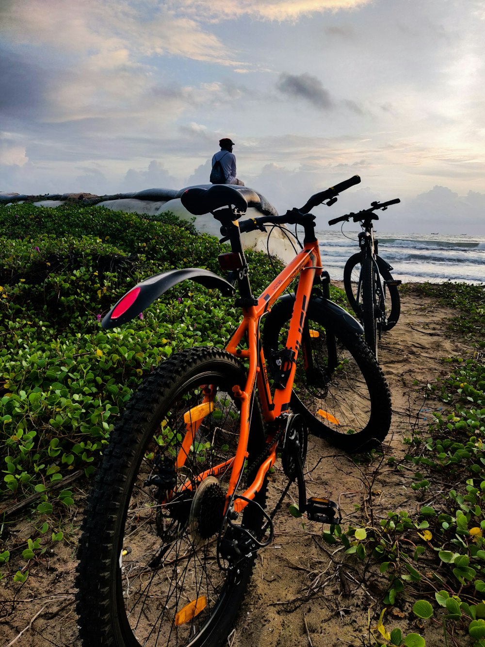
<path fill-rule="evenodd" d="M 245 381 L 232 355 L 191 349 L 157 367 L 129 402 L 82 527 L 84 645 L 213 647 L 226 639 L 254 560 L 221 551 L 241 418 L 233 387 Z M 248 463 L 263 450 L 253 403 Z M 237 492 L 254 476 L 246 468 Z M 238 521 L 255 537 L 265 496 L 266 482 Z"/>

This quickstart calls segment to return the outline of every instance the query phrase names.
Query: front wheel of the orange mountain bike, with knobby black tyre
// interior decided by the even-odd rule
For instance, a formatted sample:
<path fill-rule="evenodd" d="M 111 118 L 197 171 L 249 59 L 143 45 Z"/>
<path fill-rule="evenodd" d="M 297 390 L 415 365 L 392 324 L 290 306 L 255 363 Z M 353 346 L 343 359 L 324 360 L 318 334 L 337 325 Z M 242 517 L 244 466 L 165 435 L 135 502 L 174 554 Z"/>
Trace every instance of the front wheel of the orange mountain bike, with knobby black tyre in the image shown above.
<path fill-rule="evenodd" d="M 263 329 L 264 355 L 285 347 L 293 303 L 276 303 Z M 310 298 L 290 405 L 314 435 L 347 451 L 382 441 L 391 425 L 391 395 L 376 358 L 356 333 L 332 325 Z"/>

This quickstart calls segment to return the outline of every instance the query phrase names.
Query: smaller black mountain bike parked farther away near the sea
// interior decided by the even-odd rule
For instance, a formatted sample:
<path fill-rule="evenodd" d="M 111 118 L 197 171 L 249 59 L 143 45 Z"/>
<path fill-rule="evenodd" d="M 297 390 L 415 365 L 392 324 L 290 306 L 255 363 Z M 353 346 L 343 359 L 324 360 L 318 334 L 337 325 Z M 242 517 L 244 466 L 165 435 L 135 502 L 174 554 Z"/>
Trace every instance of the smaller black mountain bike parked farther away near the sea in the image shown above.
<path fill-rule="evenodd" d="M 401 312 L 398 285 L 391 275 L 393 267 L 378 255 L 378 240 L 374 238 L 373 220 L 379 216 L 374 211 L 385 211 L 391 204 L 400 203 L 400 199 L 385 203 L 373 202 L 369 209 L 357 214 L 341 215 L 329 220 L 329 225 L 349 222 L 360 223 L 360 252 L 350 256 L 343 270 L 343 285 L 352 310 L 361 320 L 365 341 L 377 356 L 377 341 L 383 331 L 391 330 L 396 325 Z"/>

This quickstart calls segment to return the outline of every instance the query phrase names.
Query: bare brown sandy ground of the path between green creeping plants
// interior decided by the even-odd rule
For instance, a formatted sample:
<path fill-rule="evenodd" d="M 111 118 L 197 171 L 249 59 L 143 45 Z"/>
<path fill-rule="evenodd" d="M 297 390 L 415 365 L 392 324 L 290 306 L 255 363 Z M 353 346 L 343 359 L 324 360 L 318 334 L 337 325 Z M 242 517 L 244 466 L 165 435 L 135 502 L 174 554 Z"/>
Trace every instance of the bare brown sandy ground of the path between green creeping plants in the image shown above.
<path fill-rule="evenodd" d="M 446 332 L 446 318 L 452 315 L 453 311 L 435 307 L 413 292 L 402 294 L 398 325 L 380 343 L 380 363 L 391 388 L 394 412 L 380 464 L 374 459 L 371 465 L 356 465 L 325 441 L 310 436 L 308 496 L 329 496 L 339 501 L 343 527 L 349 522 L 370 523 L 371 515 L 378 520 L 387 510 L 412 512 L 420 505 L 413 498 L 409 480 L 387 466 L 387 457 L 402 457 L 403 437 L 409 437 L 413 427 L 427 428 L 430 412 L 442 407 L 440 402 L 424 399 L 426 384 L 447 373 L 440 358 L 467 353 L 468 349 Z M 270 497 L 275 497 L 277 472 L 272 481 Z M 358 562 L 349 558 L 341 564 L 339 545 L 322 542 L 321 524 L 302 523 L 290 516 L 292 497 L 297 497 L 296 488 L 290 490 L 275 516 L 274 541 L 258 554 L 248 595 L 228 645 L 368 645 L 368 609 L 375 625 L 375 612 L 383 606 L 385 580 L 372 571 L 361 573 Z M 46 553 L 30 568 L 25 584 L 0 583 L 1 645 L 80 646 L 73 585 L 80 519 L 81 510 L 70 520 L 70 543 L 62 542 Z M 12 532 L 20 541 L 29 536 L 30 525 L 18 520 Z M 388 611 L 386 625 L 422 633 L 428 647 L 443 644 L 442 634 L 435 635 L 431 627 L 420 630 L 409 619 L 411 606 L 405 601 L 396 604 Z"/>

